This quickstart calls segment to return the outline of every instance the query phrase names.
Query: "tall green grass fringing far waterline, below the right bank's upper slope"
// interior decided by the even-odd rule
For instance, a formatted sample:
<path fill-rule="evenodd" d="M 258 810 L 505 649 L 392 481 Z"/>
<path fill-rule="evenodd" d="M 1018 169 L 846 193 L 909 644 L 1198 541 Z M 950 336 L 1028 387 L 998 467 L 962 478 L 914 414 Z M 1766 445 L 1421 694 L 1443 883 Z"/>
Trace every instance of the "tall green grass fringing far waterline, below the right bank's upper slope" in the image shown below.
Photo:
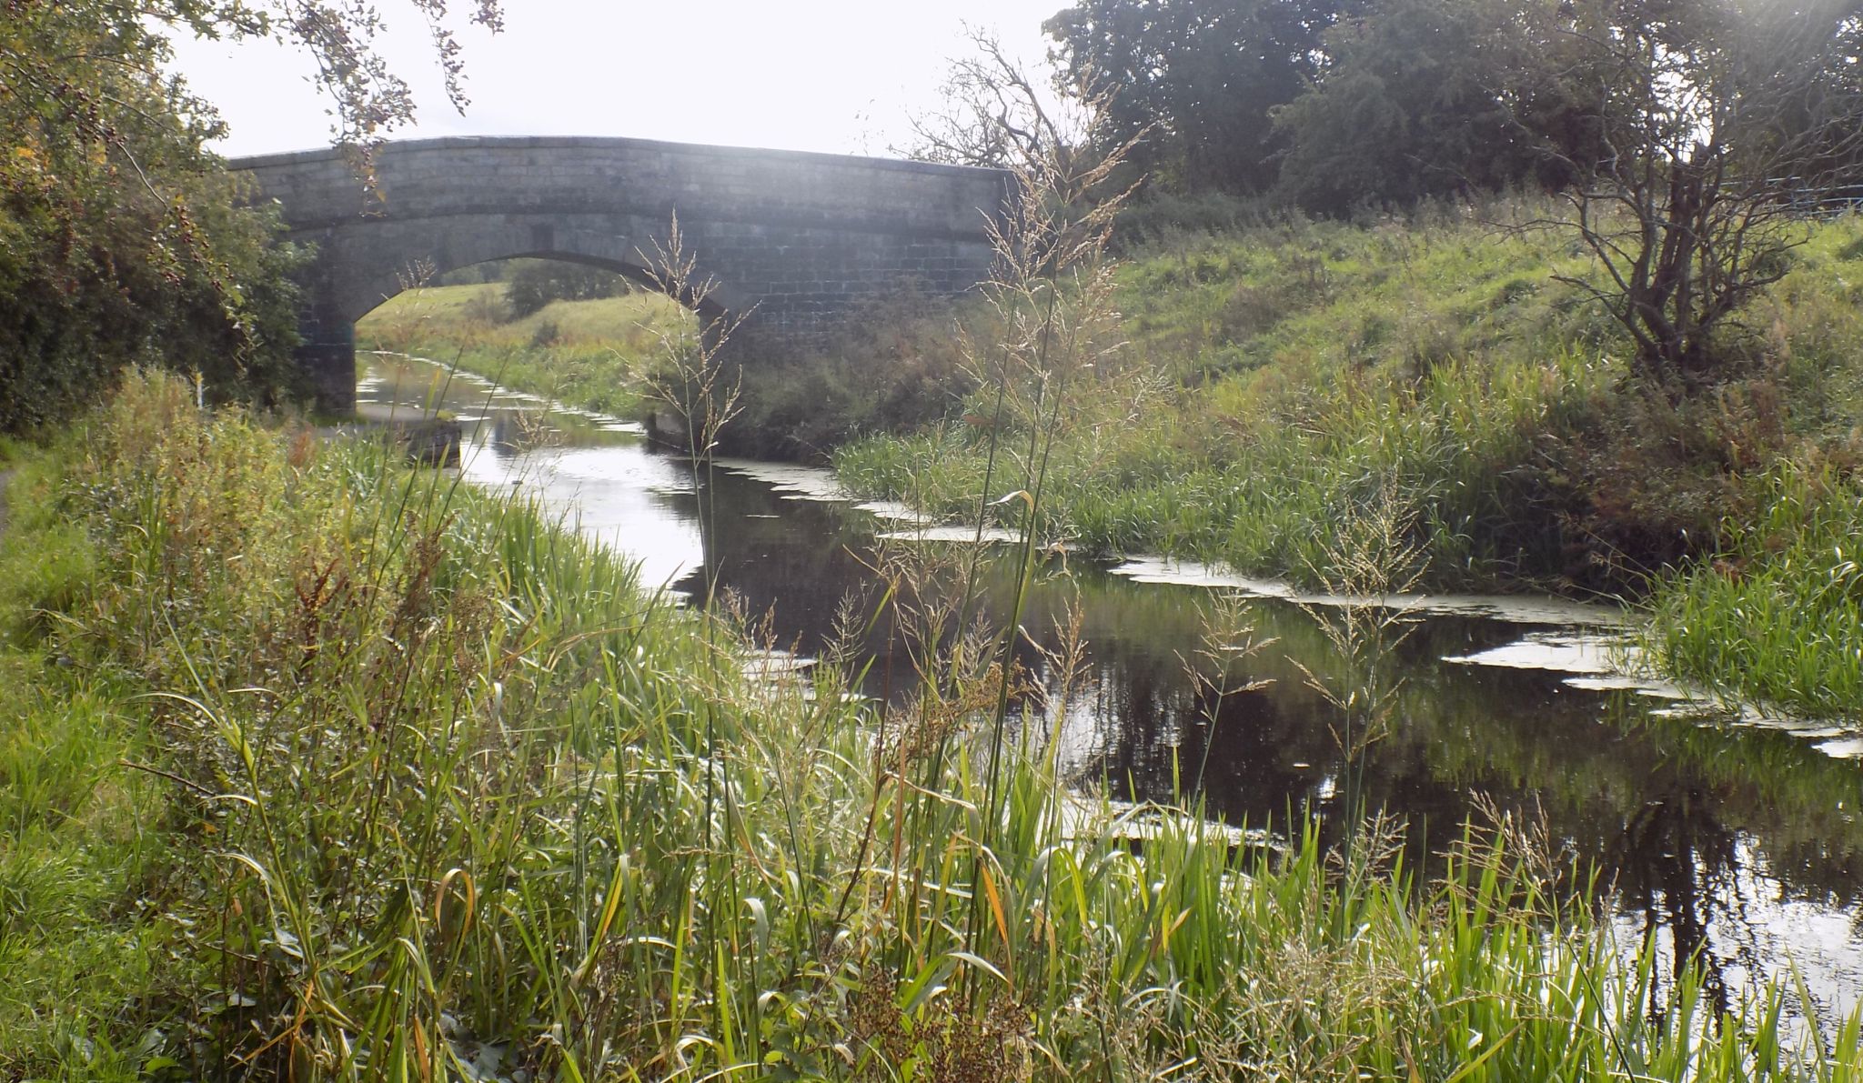
<path fill-rule="evenodd" d="M 1418 510 L 1421 582 L 1492 588 L 1554 582 L 1569 553 L 1565 510 L 1537 471 L 1546 441 L 1572 432 L 1611 380 L 1582 354 L 1531 365 L 1446 363 L 1394 387 L 1345 378 L 1280 402 L 1235 393 L 1203 421 L 1077 421 L 1056 447 L 1053 515 L 1088 553 L 1170 551 L 1244 571 L 1321 582 L 1343 508 L 1386 486 Z M 1211 391 L 1211 400 L 1228 393 Z M 1140 408 L 1142 413 L 1142 408 Z M 1237 439 L 1189 452 L 1220 419 Z M 956 512 L 980 450 L 967 426 L 855 443 L 836 460 L 863 491 Z M 1174 435 L 1181 434 L 1181 439 Z"/>

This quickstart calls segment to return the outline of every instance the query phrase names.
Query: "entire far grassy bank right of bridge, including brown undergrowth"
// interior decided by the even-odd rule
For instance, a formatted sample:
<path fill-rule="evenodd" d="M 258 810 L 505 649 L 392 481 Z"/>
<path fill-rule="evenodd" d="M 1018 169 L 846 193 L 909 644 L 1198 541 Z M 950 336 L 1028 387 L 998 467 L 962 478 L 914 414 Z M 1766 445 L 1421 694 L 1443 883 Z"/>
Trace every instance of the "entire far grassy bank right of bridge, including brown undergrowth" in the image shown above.
<path fill-rule="evenodd" d="M 1498 225 L 1543 212 L 1146 240 L 1120 270 L 1123 348 L 1056 415 L 1049 534 L 1336 584 L 1332 553 L 1358 547 L 1341 530 L 1395 514 L 1418 586 L 1654 594 L 1677 675 L 1863 716 L 1841 542 L 1863 463 L 1863 220 L 1807 221 L 1723 335 L 1718 381 L 1679 393 L 1632 380 L 1615 326 L 1557 281 L 1593 274 L 1569 238 Z M 835 465 L 974 514 L 989 419 L 972 393 Z M 1008 447 L 1025 430 L 1010 419 Z"/>

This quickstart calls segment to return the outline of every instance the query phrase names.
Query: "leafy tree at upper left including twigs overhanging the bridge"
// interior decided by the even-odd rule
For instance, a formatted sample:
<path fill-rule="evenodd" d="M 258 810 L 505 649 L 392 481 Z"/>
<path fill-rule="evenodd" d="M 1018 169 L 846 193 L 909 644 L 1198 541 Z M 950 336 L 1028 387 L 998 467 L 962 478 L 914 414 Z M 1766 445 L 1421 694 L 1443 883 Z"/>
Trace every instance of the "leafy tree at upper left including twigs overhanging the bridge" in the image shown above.
<path fill-rule="evenodd" d="M 462 104 L 445 0 L 412 0 Z M 496 0 L 473 20 L 497 26 Z M 302 43 L 367 145 L 414 102 L 367 6 L 324 0 L 0 0 L 0 428 L 52 421 L 130 363 L 199 372 L 214 396 L 291 393 L 289 247 L 242 208 L 212 108 L 164 71 L 168 33 Z"/>

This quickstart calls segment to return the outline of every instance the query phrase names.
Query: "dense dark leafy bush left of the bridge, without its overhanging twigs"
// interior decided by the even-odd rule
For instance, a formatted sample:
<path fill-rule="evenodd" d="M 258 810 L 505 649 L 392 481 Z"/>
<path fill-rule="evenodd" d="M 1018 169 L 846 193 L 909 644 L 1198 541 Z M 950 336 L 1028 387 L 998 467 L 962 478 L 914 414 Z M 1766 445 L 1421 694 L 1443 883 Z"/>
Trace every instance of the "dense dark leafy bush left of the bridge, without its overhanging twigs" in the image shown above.
<path fill-rule="evenodd" d="M 270 246 L 276 221 L 242 208 L 203 149 L 211 110 L 138 76 L 158 39 L 60 4 L 7 19 L 20 24 L 0 41 L 0 432 L 75 413 L 130 365 L 199 374 L 214 400 L 300 393 L 298 253 Z M 60 82 L 75 89 L 45 106 L 35 91 Z"/>

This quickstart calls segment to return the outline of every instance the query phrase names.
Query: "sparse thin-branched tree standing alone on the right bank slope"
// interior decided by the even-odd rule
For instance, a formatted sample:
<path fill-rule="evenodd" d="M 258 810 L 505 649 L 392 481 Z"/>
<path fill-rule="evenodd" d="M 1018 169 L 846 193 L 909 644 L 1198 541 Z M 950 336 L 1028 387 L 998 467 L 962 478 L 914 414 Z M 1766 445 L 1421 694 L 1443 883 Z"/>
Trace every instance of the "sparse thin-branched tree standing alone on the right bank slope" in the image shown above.
<path fill-rule="evenodd" d="M 1546 0 L 1569 100 L 1595 102 L 1571 229 L 1598 281 L 1571 279 L 1660 380 L 1710 376 L 1720 328 L 1787 270 L 1803 194 L 1856 180 L 1863 147 L 1854 0 Z M 1552 69 L 1550 65 L 1546 65 Z"/>

